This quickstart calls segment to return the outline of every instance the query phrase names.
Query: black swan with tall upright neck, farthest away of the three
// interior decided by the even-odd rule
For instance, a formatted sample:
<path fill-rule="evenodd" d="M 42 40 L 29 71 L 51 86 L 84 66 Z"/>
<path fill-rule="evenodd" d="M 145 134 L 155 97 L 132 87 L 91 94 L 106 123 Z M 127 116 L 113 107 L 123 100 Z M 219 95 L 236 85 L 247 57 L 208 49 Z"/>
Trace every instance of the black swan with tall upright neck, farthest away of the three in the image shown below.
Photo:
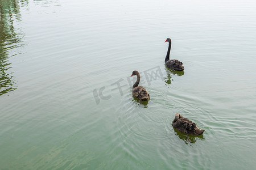
<path fill-rule="evenodd" d="M 164 61 L 166 63 L 166 66 L 169 69 L 176 70 L 176 71 L 184 70 L 182 62 L 180 62 L 177 59 L 170 59 L 170 50 L 171 50 L 172 41 L 170 38 L 168 38 L 164 42 L 167 42 L 167 41 L 169 42 L 169 47 L 168 47 L 167 54 L 166 54 L 166 60 Z"/>

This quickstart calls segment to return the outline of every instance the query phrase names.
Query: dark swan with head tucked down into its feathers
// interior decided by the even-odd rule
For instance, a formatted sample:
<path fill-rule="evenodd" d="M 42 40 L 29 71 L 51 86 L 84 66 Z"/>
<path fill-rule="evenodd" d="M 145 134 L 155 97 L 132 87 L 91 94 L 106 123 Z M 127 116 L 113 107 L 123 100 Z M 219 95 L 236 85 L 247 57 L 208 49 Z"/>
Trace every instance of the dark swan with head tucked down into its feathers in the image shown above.
<path fill-rule="evenodd" d="M 188 118 L 184 118 L 179 113 L 175 114 L 174 121 L 172 121 L 172 126 L 182 133 L 191 134 L 191 135 L 201 135 L 204 133 L 204 130 L 197 128 L 196 124 L 192 121 L 189 121 Z"/>

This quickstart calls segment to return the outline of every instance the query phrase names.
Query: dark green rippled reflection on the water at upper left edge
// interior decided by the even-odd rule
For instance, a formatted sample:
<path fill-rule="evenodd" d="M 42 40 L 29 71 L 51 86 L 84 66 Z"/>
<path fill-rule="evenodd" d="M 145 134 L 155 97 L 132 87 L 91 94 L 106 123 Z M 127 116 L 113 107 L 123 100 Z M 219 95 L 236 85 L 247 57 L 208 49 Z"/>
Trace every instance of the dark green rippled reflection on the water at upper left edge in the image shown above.
<path fill-rule="evenodd" d="M 27 5 L 27 1 L 0 1 L 0 96 L 16 89 L 8 58 L 16 55 L 11 49 L 23 46 L 23 34 L 14 27 L 21 20 L 19 3 Z"/>

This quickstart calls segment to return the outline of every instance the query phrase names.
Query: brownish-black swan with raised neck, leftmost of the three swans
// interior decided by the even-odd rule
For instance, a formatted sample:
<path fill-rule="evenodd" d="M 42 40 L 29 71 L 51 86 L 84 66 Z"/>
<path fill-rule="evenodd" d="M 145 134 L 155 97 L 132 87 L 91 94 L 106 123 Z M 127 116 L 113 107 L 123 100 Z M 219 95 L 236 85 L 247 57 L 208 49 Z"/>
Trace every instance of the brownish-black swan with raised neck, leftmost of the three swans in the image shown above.
<path fill-rule="evenodd" d="M 131 74 L 131 76 L 133 75 L 137 75 L 137 81 L 133 85 L 133 96 L 141 101 L 150 100 L 150 95 L 148 94 L 147 90 L 142 86 L 138 86 L 139 80 L 141 79 L 141 75 L 139 75 L 139 72 L 133 71 L 133 74 Z"/>

